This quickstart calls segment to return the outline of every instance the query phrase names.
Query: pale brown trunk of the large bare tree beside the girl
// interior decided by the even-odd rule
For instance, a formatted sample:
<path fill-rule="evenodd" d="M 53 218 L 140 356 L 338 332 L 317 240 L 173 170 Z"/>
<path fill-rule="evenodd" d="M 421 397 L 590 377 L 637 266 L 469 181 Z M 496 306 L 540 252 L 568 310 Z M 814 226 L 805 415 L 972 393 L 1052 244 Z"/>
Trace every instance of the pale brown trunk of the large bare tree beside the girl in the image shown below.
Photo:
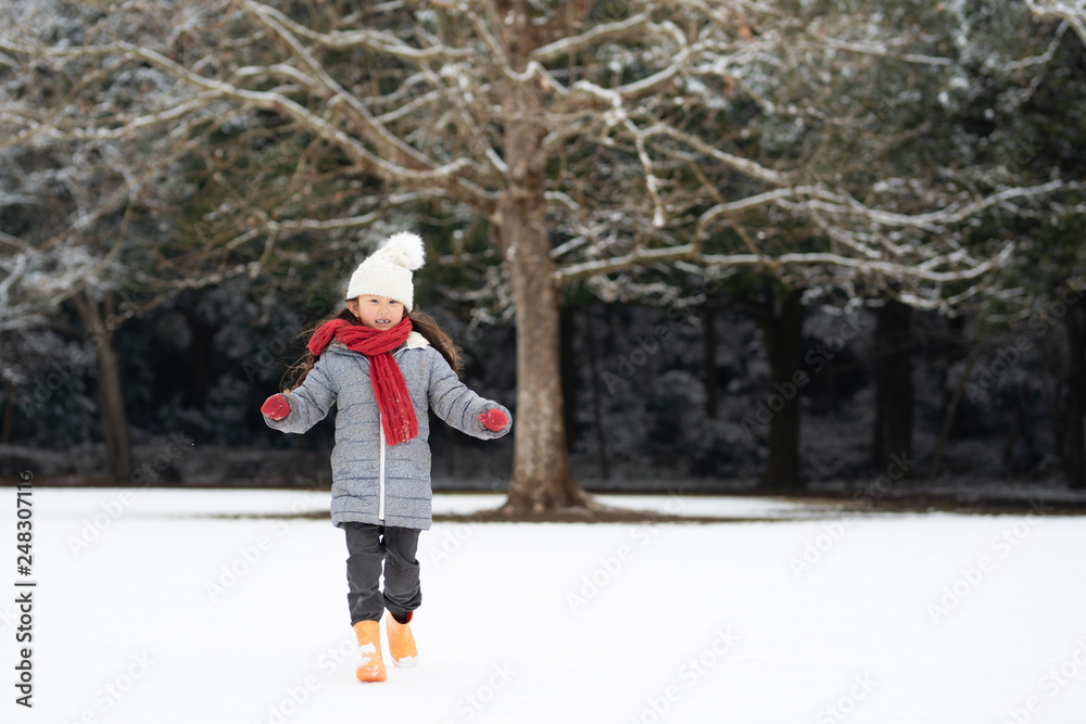
<path fill-rule="evenodd" d="M 516 3 L 503 28 L 510 65 L 522 71 L 531 52 L 531 20 Z M 503 137 L 506 187 L 491 223 L 509 268 L 517 308 L 517 419 L 513 479 L 502 506 L 508 515 L 588 506 L 590 497 L 569 472 L 561 399 L 560 295 L 551 258 L 544 192 L 546 155 L 541 144 L 542 101 L 533 85 L 507 79 L 501 101 L 508 124 Z"/>

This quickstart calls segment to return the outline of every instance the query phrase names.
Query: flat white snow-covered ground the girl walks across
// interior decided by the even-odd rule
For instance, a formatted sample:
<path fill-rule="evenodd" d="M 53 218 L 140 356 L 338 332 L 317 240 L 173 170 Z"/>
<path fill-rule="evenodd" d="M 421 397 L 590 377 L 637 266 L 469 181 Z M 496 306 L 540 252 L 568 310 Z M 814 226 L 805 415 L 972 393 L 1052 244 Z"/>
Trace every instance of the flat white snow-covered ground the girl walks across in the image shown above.
<path fill-rule="evenodd" d="M 13 681 L 25 589 L 15 492 L 0 495 Z M 364 685 L 342 532 L 267 517 L 324 510 L 327 493 L 33 496 L 34 708 L 8 684 L 4 722 L 1070 724 L 1086 712 L 1082 518 L 641 496 L 608 501 L 782 520 L 439 522 L 419 548 L 419 665 Z M 435 509 L 498 499 L 439 495 Z"/>

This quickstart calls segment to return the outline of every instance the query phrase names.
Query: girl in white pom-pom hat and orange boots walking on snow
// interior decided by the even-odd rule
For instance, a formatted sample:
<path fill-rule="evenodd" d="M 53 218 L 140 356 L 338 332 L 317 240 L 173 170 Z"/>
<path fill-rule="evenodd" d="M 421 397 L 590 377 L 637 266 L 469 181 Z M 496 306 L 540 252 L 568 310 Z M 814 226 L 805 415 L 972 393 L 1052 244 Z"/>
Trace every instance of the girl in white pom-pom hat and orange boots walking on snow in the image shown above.
<path fill-rule="evenodd" d="M 431 523 L 427 410 L 483 440 L 501 437 L 510 424 L 509 410 L 457 380 L 450 336 L 428 315 L 412 312 L 412 271 L 422 257 L 422 240 L 401 232 L 358 265 L 346 309 L 310 339 L 292 389 L 261 408 L 269 428 L 302 433 L 338 406 L 331 513 L 346 534 L 348 605 L 363 682 L 386 678 L 384 609 L 392 662 L 415 665 L 408 625 L 421 602 L 415 551 Z"/>

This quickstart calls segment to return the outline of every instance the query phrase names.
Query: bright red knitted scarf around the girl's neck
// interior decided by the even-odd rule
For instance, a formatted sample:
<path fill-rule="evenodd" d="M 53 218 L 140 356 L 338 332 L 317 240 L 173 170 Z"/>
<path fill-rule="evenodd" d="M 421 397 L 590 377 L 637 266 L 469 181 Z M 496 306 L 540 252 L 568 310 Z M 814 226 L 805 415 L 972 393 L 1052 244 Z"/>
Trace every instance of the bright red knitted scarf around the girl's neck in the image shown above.
<path fill-rule="evenodd" d="M 400 366 L 392 358 L 392 351 L 407 341 L 411 319 L 404 317 L 391 329 L 380 330 L 363 325 L 352 325 L 344 319 L 325 322 L 310 338 L 310 352 L 319 357 L 332 338 L 369 358 L 369 379 L 374 396 L 381 411 L 381 427 L 389 445 L 397 445 L 418 434 L 415 406 L 407 392 L 407 383 Z"/>

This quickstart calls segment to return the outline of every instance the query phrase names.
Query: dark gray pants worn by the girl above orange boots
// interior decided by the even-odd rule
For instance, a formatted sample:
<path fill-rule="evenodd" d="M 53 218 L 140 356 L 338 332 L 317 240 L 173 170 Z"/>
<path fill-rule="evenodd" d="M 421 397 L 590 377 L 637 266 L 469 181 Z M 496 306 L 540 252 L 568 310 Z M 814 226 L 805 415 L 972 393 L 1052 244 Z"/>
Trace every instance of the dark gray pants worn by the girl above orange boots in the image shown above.
<path fill-rule="evenodd" d="M 346 532 L 346 595 L 351 625 L 380 621 L 384 609 L 403 617 L 422 602 L 418 583 L 418 534 L 413 528 L 344 523 Z M 381 563 L 384 592 L 381 593 Z"/>

